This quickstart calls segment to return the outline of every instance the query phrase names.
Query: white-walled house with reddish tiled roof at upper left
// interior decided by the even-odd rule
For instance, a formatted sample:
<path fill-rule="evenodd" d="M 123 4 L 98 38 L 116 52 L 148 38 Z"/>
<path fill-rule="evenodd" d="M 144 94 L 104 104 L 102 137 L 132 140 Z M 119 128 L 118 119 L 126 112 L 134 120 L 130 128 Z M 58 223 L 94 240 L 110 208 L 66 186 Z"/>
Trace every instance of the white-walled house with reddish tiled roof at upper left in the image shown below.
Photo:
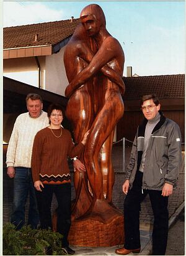
<path fill-rule="evenodd" d="M 68 85 L 64 69 L 65 45 L 80 19 L 5 27 L 3 73 L 6 77 L 64 95 Z"/>

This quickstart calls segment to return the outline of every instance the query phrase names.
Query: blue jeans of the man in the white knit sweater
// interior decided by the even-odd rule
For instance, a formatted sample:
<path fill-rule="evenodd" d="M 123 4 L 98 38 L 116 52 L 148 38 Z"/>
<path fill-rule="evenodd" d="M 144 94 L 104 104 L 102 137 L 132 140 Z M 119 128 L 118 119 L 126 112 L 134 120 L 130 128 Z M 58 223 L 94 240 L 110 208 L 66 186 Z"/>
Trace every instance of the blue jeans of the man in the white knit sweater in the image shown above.
<path fill-rule="evenodd" d="M 30 195 L 28 225 L 31 225 L 32 229 L 37 229 L 39 214 L 31 168 L 15 167 L 14 201 L 11 223 L 16 226 L 16 229 L 21 229 L 25 224 L 25 204 L 28 194 Z"/>

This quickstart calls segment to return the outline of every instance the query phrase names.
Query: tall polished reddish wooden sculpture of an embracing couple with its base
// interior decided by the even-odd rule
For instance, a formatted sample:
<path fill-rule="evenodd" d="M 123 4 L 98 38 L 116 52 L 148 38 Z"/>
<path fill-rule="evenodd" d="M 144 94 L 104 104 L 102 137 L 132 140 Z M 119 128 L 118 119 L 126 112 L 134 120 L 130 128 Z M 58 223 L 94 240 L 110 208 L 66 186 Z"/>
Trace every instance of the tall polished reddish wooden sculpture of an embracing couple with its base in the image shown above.
<path fill-rule="evenodd" d="M 69 242 L 82 246 L 111 246 L 123 242 L 123 214 L 112 204 L 114 171 L 112 141 L 124 111 L 121 93 L 125 57 L 117 39 L 106 29 L 100 6 L 81 11 L 81 24 L 64 51 L 69 85 L 66 116 L 76 142 L 89 138 L 78 158 L 86 172 L 74 173 L 76 199 L 72 208 Z"/>

